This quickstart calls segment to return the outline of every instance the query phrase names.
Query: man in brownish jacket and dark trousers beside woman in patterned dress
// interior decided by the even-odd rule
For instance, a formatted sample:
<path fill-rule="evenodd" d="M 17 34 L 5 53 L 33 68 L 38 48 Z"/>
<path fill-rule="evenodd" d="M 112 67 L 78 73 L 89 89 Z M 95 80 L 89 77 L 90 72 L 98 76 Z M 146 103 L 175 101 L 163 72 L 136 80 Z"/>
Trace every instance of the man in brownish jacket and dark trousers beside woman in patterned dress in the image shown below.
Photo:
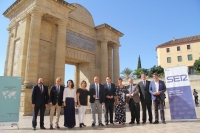
<path fill-rule="evenodd" d="M 139 97 L 139 88 L 136 84 L 133 84 L 133 79 L 129 78 L 129 85 L 126 87 L 126 102 L 129 104 L 129 108 L 131 111 L 131 122 L 129 124 L 133 124 L 135 119 L 137 124 L 140 124 L 140 97 Z"/>

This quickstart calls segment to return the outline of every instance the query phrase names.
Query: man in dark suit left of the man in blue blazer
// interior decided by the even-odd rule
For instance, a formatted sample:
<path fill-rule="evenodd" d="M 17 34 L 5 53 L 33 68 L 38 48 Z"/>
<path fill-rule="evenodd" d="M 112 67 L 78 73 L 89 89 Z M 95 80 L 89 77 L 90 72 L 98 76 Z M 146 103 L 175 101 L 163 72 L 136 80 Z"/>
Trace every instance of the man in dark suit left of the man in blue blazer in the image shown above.
<path fill-rule="evenodd" d="M 152 100 L 151 93 L 149 92 L 150 81 L 146 80 L 146 74 L 141 74 L 142 81 L 138 83 L 138 88 L 140 90 L 140 100 L 142 103 L 142 120 L 143 124 L 146 123 L 146 110 L 149 114 L 149 122 L 152 123 Z"/>

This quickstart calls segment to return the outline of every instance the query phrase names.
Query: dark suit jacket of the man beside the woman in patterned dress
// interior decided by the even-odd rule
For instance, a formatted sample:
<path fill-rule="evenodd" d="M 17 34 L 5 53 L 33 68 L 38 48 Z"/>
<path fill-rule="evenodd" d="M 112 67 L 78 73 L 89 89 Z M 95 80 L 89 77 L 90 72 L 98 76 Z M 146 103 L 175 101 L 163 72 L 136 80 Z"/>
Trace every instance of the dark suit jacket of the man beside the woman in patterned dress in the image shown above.
<path fill-rule="evenodd" d="M 116 96 L 116 88 L 115 88 L 115 84 L 111 83 L 111 88 L 109 90 L 107 83 L 104 84 L 104 89 L 105 89 L 105 103 L 107 102 L 112 102 L 114 103 L 114 96 Z M 106 96 L 113 96 L 112 99 L 106 98 Z"/>

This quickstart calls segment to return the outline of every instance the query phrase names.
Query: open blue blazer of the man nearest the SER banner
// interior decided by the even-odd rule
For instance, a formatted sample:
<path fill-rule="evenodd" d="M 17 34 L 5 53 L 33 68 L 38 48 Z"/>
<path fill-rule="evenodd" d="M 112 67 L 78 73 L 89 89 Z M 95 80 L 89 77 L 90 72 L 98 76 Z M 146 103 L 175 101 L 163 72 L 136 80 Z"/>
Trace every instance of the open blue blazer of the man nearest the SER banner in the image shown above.
<path fill-rule="evenodd" d="M 165 86 L 165 83 L 164 81 L 162 80 L 159 80 L 159 90 L 161 93 L 160 93 L 160 98 L 162 100 L 165 99 L 165 91 L 166 91 L 166 86 Z M 151 93 L 151 99 L 152 100 L 156 100 L 156 96 L 153 95 L 154 92 L 156 92 L 156 85 L 155 85 L 155 81 L 151 81 L 150 85 L 149 85 L 149 92 Z"/>

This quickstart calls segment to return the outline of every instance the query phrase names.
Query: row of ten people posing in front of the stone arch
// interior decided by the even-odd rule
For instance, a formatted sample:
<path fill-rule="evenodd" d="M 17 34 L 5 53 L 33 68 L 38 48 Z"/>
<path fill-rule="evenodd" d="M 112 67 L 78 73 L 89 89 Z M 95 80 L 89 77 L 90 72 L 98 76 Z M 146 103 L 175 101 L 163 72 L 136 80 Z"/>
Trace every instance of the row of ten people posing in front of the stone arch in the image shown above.
<path fill-rule="evenodd" d="M 129 105 L 131 112 L 131 121 L 129 124 L 140 124 L 140 102 L 142 105 L 142 123 L 147 121 L 146 110 L 148 110 L 149 122 L 153 124 L 159 123 L 158 107 L 160 109 L 162 123 L 165 124 L 164 116 L 164 92 L 166 91 L 165 83 L 158 79 L 156 73 L 153 74 L 153 81 L 146 80 L 146 74 L 141 74 L 142 81 L 138 84 L 133 83 L 133 79 L 129 78 L 129 85 L 124 86 L 122 79 L 118 79 L 118 85 L 111 83 L 111 77 L 106 77 L 104 85 L 99 83 L 99 78 L 94 77 L 94 83 L 87 89 L 87 82 L 82 81 L 80 88 L 74 88 L 72 80 L 67 81 L 67 86 L 61 85 L 61 78 L 56 79 L 56 84 L 51 87 L 50 95 L 48 87 L 44 85 L 42 78 L 38 79 L 38 84 L 32 89 L 32 106 L 34 114 L 32 119 L 32 129 L 37 126 L 37 115 L 40 110 L 40 129 L 44 127 L 45 108 L 50 105 L 50 129 L 53 127 L 53 116 L 56 110 L 55 128 L 59 129 L 59 118 L 61 107 L 64 106 L 64 126 L 73 128 L 76 125 L 75 107 L 78 107 L 79 127 L 86 126 L 84 124 L 84 115 L 88 101 L 90 102 L 92 127 L 98 122 L 99 126 L 104 126 L 102 122 L 102 105 L 104 105 L 104 117 L 106 125 L 114 125 L 118 122 L 124 125 L 126 122 L 126 104 Z M 88 97 L 90 99 L 88 100 Z M 155 121 L 152 118 L 152 101 L 154 105 Z M 115 118 L 113 116 L 115 111 Z M 98 113 L 98 121 L 95 113 Z M 108 118 L 109 116 L 109 118 Z"/>

